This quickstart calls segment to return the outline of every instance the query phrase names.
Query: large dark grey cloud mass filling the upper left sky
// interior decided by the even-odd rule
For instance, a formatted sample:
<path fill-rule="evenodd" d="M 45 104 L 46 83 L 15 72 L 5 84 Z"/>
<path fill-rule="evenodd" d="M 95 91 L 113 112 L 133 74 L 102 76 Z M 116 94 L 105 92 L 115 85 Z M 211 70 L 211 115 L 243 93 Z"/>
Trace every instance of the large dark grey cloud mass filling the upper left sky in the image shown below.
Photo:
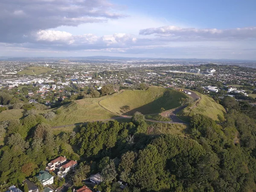
<path fill-rule="evenodd" d="M 0 7 L 0 42 L 7 43 L 38 30 L 126 17 L 108 0 L 0 0 Z"/>

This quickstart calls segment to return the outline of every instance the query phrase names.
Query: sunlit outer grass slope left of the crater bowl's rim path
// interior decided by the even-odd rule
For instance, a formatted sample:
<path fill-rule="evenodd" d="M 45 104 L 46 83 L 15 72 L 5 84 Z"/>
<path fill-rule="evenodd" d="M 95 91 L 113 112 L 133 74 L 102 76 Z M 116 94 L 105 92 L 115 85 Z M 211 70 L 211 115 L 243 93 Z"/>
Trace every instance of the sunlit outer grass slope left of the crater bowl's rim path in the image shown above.
<path fill-rule="evenodd" d="M 98 102 L 102 98 L 80 99 L 60 107 L 61 113 L 49 122 L 53 126 L 72 125 L 80 122 L 104 120 L 114 115 L 100 107 Z M 55 109 L 52 109 L 54 111 Z"/>

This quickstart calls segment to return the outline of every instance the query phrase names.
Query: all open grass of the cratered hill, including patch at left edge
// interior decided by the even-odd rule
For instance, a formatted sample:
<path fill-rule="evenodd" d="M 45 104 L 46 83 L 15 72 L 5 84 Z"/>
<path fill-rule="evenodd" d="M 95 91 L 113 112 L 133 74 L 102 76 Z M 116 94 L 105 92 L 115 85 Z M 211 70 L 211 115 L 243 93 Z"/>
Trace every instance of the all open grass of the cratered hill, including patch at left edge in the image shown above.
<path fill-rule="evenodd" d="M 225 110 L 221 105 L 208 96 L 200 93 L 198 95 L 201 97 L 198 102 L 180 111 L 181 119 L 188 120 L 190 116 L 197 113 L 209 116 L 216 121 L 224 119 Z M 161 108 L 169 110 L 179 107 L 180 97 L 187 97 L 187 95 L 177 90 L 161 87 L 150 87 L 148 90 L 122 90 L 110 96 L 76 100 L 60 108 L 38 111 L 38 114 L 47 113 L 47 111 L 55 112 L 58 109 L 55 119 L 47 123 L 52 126 L 73 125 L 111 119 L 120 115 L 132 115 L 136 111 L 145 115 L 158 114 Z M 20 119 L 22 116 L 22 109 L 7 110 L 0 113 L 0 121 Z"/>

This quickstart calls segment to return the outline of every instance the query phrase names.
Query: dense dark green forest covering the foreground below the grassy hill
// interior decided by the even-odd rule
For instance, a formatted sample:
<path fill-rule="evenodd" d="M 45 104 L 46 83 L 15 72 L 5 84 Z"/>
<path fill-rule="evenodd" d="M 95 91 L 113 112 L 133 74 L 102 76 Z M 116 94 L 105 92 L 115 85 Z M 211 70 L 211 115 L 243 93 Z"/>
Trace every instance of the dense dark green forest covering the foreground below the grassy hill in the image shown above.
<path fill-rule="evenodd" d="M 195 115 L 186 137 L 147 134 L 139 112 L 131 122 L 88 122 L 76 132 L 54 135 L 43 116 L 28 110 L 20 120 L 1 124 L 6 134 L 0 151 L 0 191 L 20 186 L 25 178 L 40 186 L 34 176 L 60 155 L 79 162 L 67 176 L 75 188 L 101 172 L 104 181 L 95 188 L 102 192 L 117 192 L 118 180 L 127 183 L 124 192 L 255 191 L 255 108 L 230 98 L 221 104 L 228 111 L 224 123 Z M 56 180 L 56 186 L 61 182 Z"/>

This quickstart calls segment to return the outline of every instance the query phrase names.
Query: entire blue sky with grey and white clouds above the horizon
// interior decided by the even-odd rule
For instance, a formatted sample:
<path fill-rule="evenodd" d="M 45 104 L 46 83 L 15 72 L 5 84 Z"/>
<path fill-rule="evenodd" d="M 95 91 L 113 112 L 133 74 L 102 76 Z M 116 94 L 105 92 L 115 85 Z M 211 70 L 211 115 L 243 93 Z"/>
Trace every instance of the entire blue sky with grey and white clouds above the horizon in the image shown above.
<path fill-rule="evenodd" d="M 256 0 L 0 0 L 0 56 L 256 60 Z"/>

